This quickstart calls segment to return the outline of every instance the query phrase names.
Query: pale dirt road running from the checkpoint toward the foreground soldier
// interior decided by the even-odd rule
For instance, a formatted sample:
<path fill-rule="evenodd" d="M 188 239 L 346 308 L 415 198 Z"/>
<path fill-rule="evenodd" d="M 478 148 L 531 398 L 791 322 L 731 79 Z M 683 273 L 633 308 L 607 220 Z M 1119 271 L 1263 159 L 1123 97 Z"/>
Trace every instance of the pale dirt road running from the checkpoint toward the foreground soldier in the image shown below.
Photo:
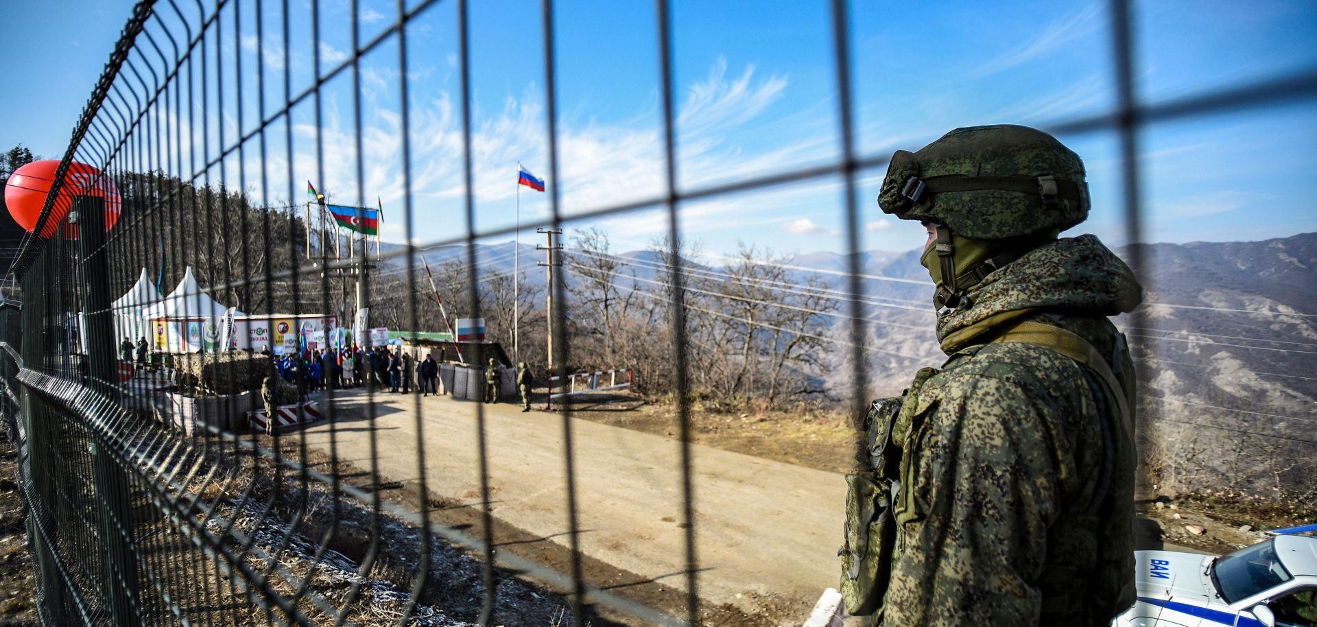
<path fill-rule="evenodd" d="M 340 393 L 338 458 L 370 466 L 365 395 Z M 465 503 L 479 499 L 477 404 L 424 398 L 416 437 L 412 396 L 377 396 L 379 472 L 394 481 L 419 476 L 425 447 L 431 491 Z M 514 404 L 483 406 L 493 515 L 568 544 L 562 418 Z M 328 450 L 329 425 L 308 431 Z M 572 420 L 582 551 L 619 569 L 685 589 L 681 458 L 670 439 Z M 693 445 L 699 595 L 755 611 L 755 597 L 801 606 L 836 585 L 846 483 L 842 476 Z M 839 452 L 846 454 L 846 452 Z"/>

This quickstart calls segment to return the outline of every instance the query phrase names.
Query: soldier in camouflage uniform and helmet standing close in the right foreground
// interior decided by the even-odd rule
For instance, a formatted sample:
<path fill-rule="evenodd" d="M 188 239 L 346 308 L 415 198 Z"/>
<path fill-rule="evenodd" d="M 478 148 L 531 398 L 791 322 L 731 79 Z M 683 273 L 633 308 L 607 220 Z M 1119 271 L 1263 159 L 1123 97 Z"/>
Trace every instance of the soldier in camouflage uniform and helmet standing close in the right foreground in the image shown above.
<path fill-rule="evenodd" d="M 885 626 L 1106 626 L 1134 598 L 1134 391 L 1108 320 L 1139 304 L 1092 234 L 1079 155 L 1014 125 L 898 150 L 948 360 L 865 419 L 842 589 Z"/>

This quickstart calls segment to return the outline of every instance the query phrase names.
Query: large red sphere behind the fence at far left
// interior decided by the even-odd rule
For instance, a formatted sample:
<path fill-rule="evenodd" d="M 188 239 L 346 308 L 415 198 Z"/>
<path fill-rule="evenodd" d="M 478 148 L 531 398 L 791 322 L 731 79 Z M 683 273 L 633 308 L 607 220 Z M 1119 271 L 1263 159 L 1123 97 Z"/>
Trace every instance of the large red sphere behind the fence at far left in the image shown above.
<path fill-rule="evenodd" d="M 50 194 L 50 186 L 55 180 L 58 167 L 59 161 L 55 159 L 33 161 L 14 170 L 5 184 L 4 202 L 9 208 L 9 215 L 29 233 L 37 228 L 37 219 L 41 216 L 41 208 L 46 204 L 46 196 Z M 55 196 L 55 203 L 50 208 L 50 219 L 41 229 L 41 237 L 55 234 L 55 229 L 68 216 L 75 196 L 105 199 L 105 231 L 109 231 L 119 221 L 120 199 L 115 182 L 96 167 L 75 161 L 68 163 L 65 184 L 59 188 L 59 195 Z M 66 228 L 65 236 L 76 237 L 76 227 Z"/>

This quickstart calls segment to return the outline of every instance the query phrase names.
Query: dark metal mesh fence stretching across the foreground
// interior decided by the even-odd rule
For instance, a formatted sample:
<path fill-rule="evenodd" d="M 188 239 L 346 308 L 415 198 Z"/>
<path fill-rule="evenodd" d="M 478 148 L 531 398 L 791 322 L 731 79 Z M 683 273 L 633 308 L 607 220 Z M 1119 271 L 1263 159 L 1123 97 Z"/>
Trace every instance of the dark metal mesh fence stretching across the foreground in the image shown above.
<path fill-rule="evenodd" d="M 849 387 L 865 389 L 872 374 L 867 370 L 867 325 L 872 323 L 867 307 L 872 300 L 867 299 L 877 296 L 867 294 L 861 266 L 859 179 L 884 169 L 888 157 L 863 154 L 856 145 L 848 32 L 856 9 L 836 0 L 827 17 L 835 61 L 839 158 L 684 187 L 678 184 L 673 11 L 658 0 L 655 25 L 664 153 L 661 192 L 569 209 L 554 184 L 562 169 L 558 49 L 554 3 L 544 0 L 539 18 L 549 215 L 516 225 L 478 228 L 468 3 L 400 1 L 396 12 L 385 18 L 386 26 L 362 37 L 367 29 L 360 24 L 362 11 L 353 1 L 345 54 L 329 54 L 332 49 L 323 45 L 321 3 L 309 3 L 307 11 L 294 4 L 141 1 L 54 177 L 36 229 L 45 237 L 29 237 L 12 267 L 18 286 L 5 290 L 0 303 L 5 348 L 0 354 L 5 386 L 0 407 L 20 447 L 20 485 L 30 507 L 28 530 L 43 622 L 551 622 L 553 616 L 527 618 L 539 616 L 539 610 L 519 603 L 527 594 L 539 598 L 544 590 L 516 587 L 523 578 L 548 586 L 551 591 L 544 594 L 560 595 L 554 598 L 565 605 L 569 618 L 557 619 L 573 624 L 710 622 L 711 610 L 701 605 L 706 577 L 699 551 L 703 523 L 695 508 L 701 495 L 690 444 L 693 383 L 686 331 L 690 316 L 719 314 L 687 302 L 699 290 L 687 285 L 691 273 L 712 271 L 686 267 L 681 207 L 781 186 L 839 182 L 844 287 L 820 296 L 815 306 L 793 307 L 805 307 L 807 314 L 814 312 L 810 315 L 826 314 L 810 307 L 824 307 L 842 316 L 844 332 L 827 341 L 849 353 Z M 417 179 L 428 165 L 412 161 L 416 136 L 407 103 L 410 86 L 419 79 L 410 74 L 414 59 L 408 57 L 408 41 L 424 37 L 414 26 L 440 11 L 453 12 L 456 29 L 460 101 L 454 107 L 461 133 L 449 158 L 460 163 L 464 215 L 454 223 L 461 225 L 453 229 L 456 234 L 419 241 L 416 224 L 432 217 L 416 205 Z M 1129 3 L 1114 0 L 1109 13 L 1117 107 L 1044 128 L 1071 134 L 1115 133 L 1126 240 L 1137 244 L 1143 241 L 1137 155 L 1146 128 L 1312 99 L 1317 95 L 1317 75 L 1143 104 L 1134 92 Z M 290 33 L 299 29 L 309 29 L 302 37 L 311 45 L 292 50 L 290 41 L 296 36 Z M 362 66 L 367 61 L 373 67 L 392 70 L 392 79 L 383 84 L 394 91 L 390 97 L 403 103 L 394 121 L 400 180 L 389 184 L 400 187 L 400 207 L 390 209 L 398 213 L 390 220 L 404 225 L 406 244 L 387 248 L 378 240 L 354 237 L 348 229 L 365 224 L 375 215 L 371 211 L 383 211 L 378 200 L 377 208 L 370 207 L 367 192 L 374 180 L 367 173 L 371 155 L 363 146 L 362 123 L 362 95 L 369 92 L 362 87 L 369 79 Z M 331 128 L 324 120 L 321 99 L 325 90 L 344 84 L 350 86 L 353 100 L 352 128 L 346 130 Z M 331 130 L 333 138 L 327 137 Z M 299 161 L 307 154 L 309 161 Z M 356 169 L 356 182 L 348 186 L 354 198 L 342 199 L 344 205 L 337 208 L 345 213 L 338 220 L 346 223 L 342 227 L 335 227 L 332 207 L 316 190 L 308 190 L 308 200 L 298 200 L 304 196 L 300 180 L 323 182 L 327 162 L 335 159 L 349 159 Z M 103 174 L 90 174 L 76 163 L 92 165 Z M 552 527 L 565 540 L 556 544 L 556 551 L 533 556 L 518 552 L 514 544 L 543 543 L 545 537 L 535 537 L 539 532 L 523 537 L 518 535 L 522 531 L 500 527 L 497 520 L 500 495 L 491 483 L 490 466 L 506 460 L 495 452 L 510 450 L 507 441 L 498 440 L 506 433 L 479 403 L 461 410 L 470 419 L 461 424 L 461 432 L 454 429 L 458 423 L 440 420 L 432 406 L 415 394 L 385 410 L 377 400 L 396 383 L 374 377 L 369 354 L 374 344 L 389 337 L 363 336 L 373 327 L 369 316 L 392 316 L 395 324 L 412 331 L 402 337 L 407 350 L 424 348 L 441 357 L 448 350 L 449 357 L 456 354 L 452 361 L 466 365 L 441 373 L 444 387 L 452 393 L 460 387 L 458 381 L 479 387 L 487 358 L 502 362 L 508 371 L 515 368 L 512 360 L 499 356 L 491 344 L 462 344 L 461 337 L 425 342 L 415 333 L 427 327 L 440 329 L 449 320 L 446 314 L 436 319 L 429 311 L 439 290 L 431 290 L 425 274 L 420 274 L 429 269 L 417 252 L 460 246 L 456 265 L 449 266 L 465 267 L 452 274 L 458 277 L 453 292 L 458 295 L 457 307 L 471 319 L 493 319 L 491 307 L 507 307 L 491 306 L 489 298 L 482 298 L 491 277 L 481 266 L 491 258 L 481 258 L 486 252 L 479 242 L 528 228 L 561 233 L 565 225 L 644 212 L 661 216 L 668 231 L 657 250 L 660 261 L 652 266 L 651 283 L 657 287 L 649 292 L 662 303 L 655 328 L 668 329 L 665 337 L 652 337 L 651 342 L 658 346 L 655 354 L 668 368 L 648 374 L 661 378 L 673 393 L 672 435 L 677 443 L 676 452 L 662 457 L 673 465 L 657 470 L 677 481 L 649 498 L 665 501 L 665 511 L 680 530 L 673 543 L 680 556 L 666 560 L 674 570 L 665 573 L 662 594 L 637 597 L 628 594 L 631 584 L 587 574 L 602 569 L 582 548 L 590 532 L 582 523 L 582 508 L 587 507 L 582 504 L 582 482 L 589 473 L 577 465 L 582 454 L 578 447 L 583 444 L 576 439 L 582 427 L 573 422 L 572 403 L 552 415 L 560 431 L 552 437 L 549 454 L 557 458 L 560 474 L 522 479 L 560 483 L 561 504 L 543 516 L 554 520 Z M 553 236 L 548 241 L 548 248 L 556 246 Z M 1141 271 L 1147 265 L 1143 250 L 1137 245 L 1127 249 L 1130 266 Z M 566 257 L 566 270 L 551 271 L 544 286 L 544 295 L 558 306 L 549 307 L 547 320 L 536 323 L 557 339 L 539 356 L 551 365 L 540 374 L 560 381 L 572 374 L 573 364 L 573 311 L 566 304 L 573 300 L 565 275 L 574 271 L 591 277 L 589 270 L 573 269 L 570 254 Z M 514 274 L 519 271 L 516 266 Z M 602 277 L 608 270 L 594 271 Z M 125 302 L 121 295 L 137 294 L 134 290 L 142 286 L 134 279 L 145 281 L 146 295 Z M 170 292 L 175 285 L 179 288 Z M 632 282 L 631 290 L 637 285 Z M 400 290 L 402 296 L 382 292 L 381 286 Z M 153 290 L 155 296 L 150 295 Z M 788 286 L 790 290 L 799 292 L 805 287 Z M 439 306 L 444 306 L 443 299 Z M 482 307 L 487 311 L 482 312 Z M 236 311 L 240 308 L 245 314 Z M 361 310 L 370 311 L 365 324 L 358 317 Z M 1133 328 L 1144 324 L 1139 312 L 1127 320 Z M 346 373 L 346 379 L 350 383 L 356 378 L 361 386 L 320 383 L 323 390 L 312 390 L 316 403 L 303 403 L 306 389 L 316 387 L 312 370 L 319 370 L 320 381 L 342 375 L 340 356 L 344 346 L 353 344 L 346 331 L 354 331 L 353 340 L 366 349 L 360 357 L 350 349 L 346 353 L 356 360 L 356 377 Z M 269 339 L 257 337 L 266 333 Z M 230 340 L 234 336 L 242 340 Z M 144 346 L 138 346 L 138 339 Z M 121 346 L 122 341 L 126 346 Z M 267 383 L 266 374 L 271 362 L 281 361 L 279 353 L 287 348 L 288 353 L 306 354 L 311 346 L 331 348 L 331 358 L 319 366 L 294 364 L 291 373 Z M 262 348 L 275 354 L 269 357 Z M 547 394 L 552 393 L 549 386 Z M 308 422 L 313 427 L 283 431 L 278 428 L 281 418 L 266 414 L 261 427 L 270 427 L 253 428 L 253 412 L 265 410 L 266 396 L 281 394 L 298 396 L 284 406 L 286 411 L 278 408 L 275 414 L 284 414 L 294 425 Z M 852 415 L 860 415 L 867 403 L 863 394 L 849 394 L 844 400 Z M 386 439 L 389 429 L 407 436 Z M 1295 445 L 1312 444 L 1300 435 L 1266 436 Z M 465 448 L 464 458 L 449 458 L 453 448 L 437 447 L 437 441 L 449 439 L 458 443 L 453 447 Z M 436 482 L 464 485 L 464 497 L 436 494 Z M 639 545 L 647 540 L 633 541 Z M 645 578 L 648 584 L 655 581 L 657 577 Z M 453 597 L 452 590 L 461 590 L 462 598 Z M 445 615 L 452 603 L 474 610 L 458 620 Z"/>

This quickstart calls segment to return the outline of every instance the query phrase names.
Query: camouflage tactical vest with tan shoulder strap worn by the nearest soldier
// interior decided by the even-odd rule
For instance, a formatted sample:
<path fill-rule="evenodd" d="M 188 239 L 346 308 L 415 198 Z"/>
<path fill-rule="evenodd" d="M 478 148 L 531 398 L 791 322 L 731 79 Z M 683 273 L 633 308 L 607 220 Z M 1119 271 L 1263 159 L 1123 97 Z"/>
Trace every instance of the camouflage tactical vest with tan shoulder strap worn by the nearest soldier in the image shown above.
<path fill-rule="evenodd" d="M 1015 316 L 1011 316 L 1015 317 Z M 1102 465 L 1097 489 L 1088 506 L 1088 514 L 1105 518 L 1112 510 L 1113 460 L 1121 443 L 1133 443 L 1133 415 L 1130 398 L 1117 379 L 1110 364 L 1087 340 L 1069 331 L 1050 324 L 1019 321 L 1018 317 L 1005 321 L 1002 328 L 993 329 L 994 337 L 988 344 L 1023 342 L 1060 353 L 1084 366 L 1085 381 L 1102 416 Z M 1123 337 L 1122 337 L 1123 339 Z M 1115 344 L 1112 361 L 1122 364 L 1123 341 Z M 956 354 L 981 349 L 977 344 Z M 948 358 L 950 362 L 950 358 Z M 909 389 L 898 398 L 874 400 L 864 420 L 864 449 L 859 454 L 857 468 L 846 476 L 846 527 L 844 544 L 838 549 L 842 556 L 840 591 L 847 613 L 852 615 L 872 615 L 873 624 L 882 622 L 882 605 L 892 572 L 893 555 L 898 535 L 894 516 L 896 504 L 909 494 L 902 491 L 902 479 L 909 483 L 909 456 L 903 456 L 898 444 L 905 444 L 911 429 L 915 403 L 923 383 L 938 370 L 921 369 Z M 1131 453 L 1131 452 L 1126 452 Z M 907 504 L 909 507 L 909 504 Z M 1134 603 L 1133 573 L 1121 576 L 1125 570 L 1123 557 L 1106 555 L 1101 547 L 1118 547 L 1121 539 L 1113 526 L 1097 530 L 1097 551 L 1093 570 L 1079 573 L 1062 564 L 1048 565 L 1040 577 L 1047 582 L 1043 591 L 1040 624 L 1054 624 L 1065 611 L 1076 607 L 1083 599 L 1072 598 L 1072 591 L 1088 587 L 1098 602 L 1112 607 L 1125 607 Z M 1079 585 L 1079 580 L 1084 585 Z"/>

